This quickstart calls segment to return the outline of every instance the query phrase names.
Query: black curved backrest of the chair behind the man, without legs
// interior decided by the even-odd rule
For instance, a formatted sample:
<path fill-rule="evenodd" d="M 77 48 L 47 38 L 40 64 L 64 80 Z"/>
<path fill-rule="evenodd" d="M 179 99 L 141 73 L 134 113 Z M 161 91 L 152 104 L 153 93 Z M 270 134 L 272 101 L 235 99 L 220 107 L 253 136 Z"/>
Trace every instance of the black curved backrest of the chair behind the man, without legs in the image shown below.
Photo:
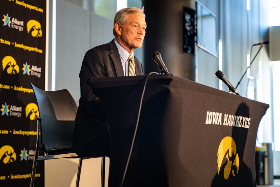
<path fill-rule="evenodd" d="M 30 83 L 38 103 L 41 142 L 45 152 L 72 149 L 72 134 L 77 105 L 67 89 L 45 91 Z"/>

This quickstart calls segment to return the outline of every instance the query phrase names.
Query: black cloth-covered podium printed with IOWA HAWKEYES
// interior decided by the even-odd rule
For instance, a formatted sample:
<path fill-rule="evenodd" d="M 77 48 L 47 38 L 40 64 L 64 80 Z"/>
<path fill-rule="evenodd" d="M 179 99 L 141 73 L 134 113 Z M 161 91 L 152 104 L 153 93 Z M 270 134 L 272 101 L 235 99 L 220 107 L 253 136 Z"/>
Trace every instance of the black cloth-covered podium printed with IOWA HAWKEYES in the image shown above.
<path fill-rule="evenodd" d="M 121 184 L 147 76 L 87 82 L 109 118 L 109 186 Z M 269 105 L 175 75 L 151 75 L 124 186 L 256 186 L 255 142 Z"/>

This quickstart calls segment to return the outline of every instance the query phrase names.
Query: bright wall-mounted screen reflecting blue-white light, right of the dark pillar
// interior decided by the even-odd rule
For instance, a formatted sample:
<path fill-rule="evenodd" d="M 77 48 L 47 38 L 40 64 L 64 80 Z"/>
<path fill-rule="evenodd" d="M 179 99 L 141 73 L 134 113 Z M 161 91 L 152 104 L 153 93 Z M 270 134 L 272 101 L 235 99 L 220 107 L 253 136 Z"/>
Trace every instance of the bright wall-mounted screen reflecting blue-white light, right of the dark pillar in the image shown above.
<path fill-rule="evenodd" d="M 196 2 L 197 46 L 213 56 L 218 56 L 217 17 L 200 2 Z"/>

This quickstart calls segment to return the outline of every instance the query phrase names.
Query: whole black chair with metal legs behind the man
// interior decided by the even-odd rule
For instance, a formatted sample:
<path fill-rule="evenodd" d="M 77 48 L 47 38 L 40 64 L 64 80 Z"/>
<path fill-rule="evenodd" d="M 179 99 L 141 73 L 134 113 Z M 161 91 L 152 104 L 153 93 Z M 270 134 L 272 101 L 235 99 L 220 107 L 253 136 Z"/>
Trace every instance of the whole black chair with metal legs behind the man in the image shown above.
<path fill-rule="evenodd" d="M 39 108 L 37 120 L 37 141 L 32 165 L 30 187 L 33 187 L 37 160 L 58 158 L 80 158 L 72 149 L 72 134 L 77 113 L 77 105 L 67 89 L 45 91 L 30 83 Z M 46 156 L 38 156 L 39 133 Z M 80 158 L 76 187 L 79 186 L 82 161 L 89 157 Z M 105 156 L 102 156 L 101 186 L 105 183 Z"/>

